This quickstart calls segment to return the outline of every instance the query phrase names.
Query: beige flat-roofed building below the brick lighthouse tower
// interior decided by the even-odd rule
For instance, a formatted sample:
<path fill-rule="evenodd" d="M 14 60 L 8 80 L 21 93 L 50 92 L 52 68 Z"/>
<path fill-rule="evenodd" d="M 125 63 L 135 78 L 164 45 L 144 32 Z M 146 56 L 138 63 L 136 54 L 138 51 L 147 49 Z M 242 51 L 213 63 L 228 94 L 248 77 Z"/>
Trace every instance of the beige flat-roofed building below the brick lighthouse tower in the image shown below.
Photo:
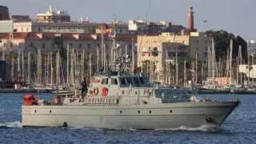
<path fill-rule="evenodd" d="M 155 36 L 138 36 L 138 67 L 145 70 L 146 62 L 151 62 L 152 67 L 156 67 L 155 73 L 158 74 L 158 80 L 162 81 L 162 74 L 166 72 L 166 62 L 172 65 L 176 62 L 176 53 L 178 63 L 182 63 L 184 58 L 190 58 L 191 61 L 206 61 L 208 46 L 211 46 L 211 39 L 202 32 L 190 32 L 186 35 L 176 35 L 172 33 L 162 33 Z M 156 48 L 158 56 L 154 57 L 152 52 Z M 152 62 L 154 65 L 152 66 Z"/>

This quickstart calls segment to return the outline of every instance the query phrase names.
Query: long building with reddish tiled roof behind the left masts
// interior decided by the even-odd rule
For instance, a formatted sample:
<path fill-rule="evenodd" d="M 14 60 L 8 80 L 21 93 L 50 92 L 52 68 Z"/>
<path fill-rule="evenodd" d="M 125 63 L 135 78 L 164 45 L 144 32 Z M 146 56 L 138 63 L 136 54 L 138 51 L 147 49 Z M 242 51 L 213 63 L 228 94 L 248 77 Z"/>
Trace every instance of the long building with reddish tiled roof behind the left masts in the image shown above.
<path fill-rule="evenodd" d="M 106 46 L 106 62 L 110 62 L 110 54 L 112 50 L 112 39 L 109 34 L 103 34 L 104 44 Z M 55 55 L 58 50 L 56 40 L 62 41 L 64 50 L 67 46 L 70 49 L 79 50 L 79 55 L 82 50 L 85 51 L 87 64 L 89 62 L 89 55 L 91 54 L 92 72 L 96 72 L 97 58 L 102 62 L 102 34 L 85 34 L 85 33 L 1 33 L 0 34 L 0 55 L 2 54 L 18 54 L 18 50 L 23 50 L 25 56 L 31 52 L 36 58 L 37 51 L 40 49 L 43 55 L 53 52 Z M 118 44 L 118 54 L 132 54 L 132 45 L 137 42 L 136 35 L 131 34 L 117 34 L 116 42 Z M 134 46 L 134 51 L 137 51 Z M 98 52 L 98 54 L 97 54 Z M 55 58 L 55 57 L 54 57 Z M 135 53 L 134 58 L 137 58 Z M 9 59 L 10 60 L 10 59 Z M 9 62 L 10 63 L 10 62 Z M 109 64 L 109 63 L 108 63 Z M 32 74 L 32 73 L 31 73 Z"/>

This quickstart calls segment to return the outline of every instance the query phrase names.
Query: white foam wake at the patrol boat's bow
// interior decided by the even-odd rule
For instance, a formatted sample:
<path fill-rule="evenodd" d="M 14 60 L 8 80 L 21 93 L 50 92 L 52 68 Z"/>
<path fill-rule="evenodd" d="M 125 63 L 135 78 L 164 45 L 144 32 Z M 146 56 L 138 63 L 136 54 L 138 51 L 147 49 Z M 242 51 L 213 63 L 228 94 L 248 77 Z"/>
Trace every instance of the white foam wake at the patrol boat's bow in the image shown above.
<path fill-rule="evenodd" d="M 173 131 L 218 131 L 219 127 L 216 125 L 202 125 L 199 127 L 187 127 L 187 126 L 180 126 L 174 129 L 156 129 L 156 130 L 173 130 Z"/>

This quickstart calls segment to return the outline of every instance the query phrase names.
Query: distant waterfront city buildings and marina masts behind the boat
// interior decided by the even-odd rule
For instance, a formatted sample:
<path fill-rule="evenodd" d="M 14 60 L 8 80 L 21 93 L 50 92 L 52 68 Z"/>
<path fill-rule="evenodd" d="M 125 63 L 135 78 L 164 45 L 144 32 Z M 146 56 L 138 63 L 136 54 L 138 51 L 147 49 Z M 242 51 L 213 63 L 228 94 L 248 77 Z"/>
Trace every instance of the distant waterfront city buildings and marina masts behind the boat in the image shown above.
<path fill-rule="evenodd" d="M 168 85 L 226 86 L 229 82 L 244 84 L 247 78 L 254 82 L 256 66 L 247 57 L 254 59 L 255 40 L 240 46 L 241 54 L 236 55 L 240 60 L 227 56 L 227 66 L 229 62 L 216 61 L 214 38 L 194 27 L 192 6 L 187 10 L 187 22 L 187 26 L 140 19 L 98 23 L 81 18 L 73 22 L 67 11 L 53 6 L 32 21 L 28 15 L 10 15 L 6 6 L 0 6 L 0 82 L 79 83 L 109 68 L 111 62 L 128 61 L 131 64 L 124 65 L 127 71 L 141 71 L 151 82 Z M 68 71 L 73 64 L 74 70 Z"/>

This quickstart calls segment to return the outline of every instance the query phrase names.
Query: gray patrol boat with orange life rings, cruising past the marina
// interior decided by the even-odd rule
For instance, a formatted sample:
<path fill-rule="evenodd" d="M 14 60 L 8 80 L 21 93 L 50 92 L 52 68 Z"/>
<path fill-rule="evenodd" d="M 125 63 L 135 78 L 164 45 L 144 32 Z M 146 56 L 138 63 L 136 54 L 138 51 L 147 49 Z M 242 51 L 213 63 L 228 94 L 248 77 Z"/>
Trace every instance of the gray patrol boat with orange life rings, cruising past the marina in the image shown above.
<path fill-rule="evenodd" d="M 221 126 L 238 100 L 190 98 L 186 90 L 153 86 L 142 75 L 110 72 L 90 80 L 88 92 L 54 94 L 53 101 L 24 97 L 22 126 L 166 129 Z"/>

